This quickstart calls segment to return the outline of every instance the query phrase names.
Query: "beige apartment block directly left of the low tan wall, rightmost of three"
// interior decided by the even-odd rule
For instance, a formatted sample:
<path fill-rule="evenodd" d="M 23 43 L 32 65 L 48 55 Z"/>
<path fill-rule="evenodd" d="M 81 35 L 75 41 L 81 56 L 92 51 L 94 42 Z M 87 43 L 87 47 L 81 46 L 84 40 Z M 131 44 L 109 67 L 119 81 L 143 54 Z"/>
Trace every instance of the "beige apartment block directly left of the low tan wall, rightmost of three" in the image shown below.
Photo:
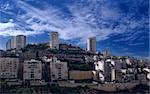
<path fill-rule="evenodd" d="M 57 58 L 53 58 L 50 62 L 51 80 L 68 80 L 67 62 L 60 62 Z"/>

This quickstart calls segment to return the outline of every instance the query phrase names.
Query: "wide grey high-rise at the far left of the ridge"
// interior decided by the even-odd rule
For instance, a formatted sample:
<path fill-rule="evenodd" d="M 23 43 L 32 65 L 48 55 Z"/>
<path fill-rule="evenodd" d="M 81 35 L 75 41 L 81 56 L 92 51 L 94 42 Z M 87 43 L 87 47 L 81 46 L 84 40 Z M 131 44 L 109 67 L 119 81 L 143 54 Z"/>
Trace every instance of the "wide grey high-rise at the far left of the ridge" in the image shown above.
<path fill-rule="evenodd" d="M 6 43 L 6 49 L 21 49 L 26 46 L 26 36 L 18 35 L 9 39 Z"/>

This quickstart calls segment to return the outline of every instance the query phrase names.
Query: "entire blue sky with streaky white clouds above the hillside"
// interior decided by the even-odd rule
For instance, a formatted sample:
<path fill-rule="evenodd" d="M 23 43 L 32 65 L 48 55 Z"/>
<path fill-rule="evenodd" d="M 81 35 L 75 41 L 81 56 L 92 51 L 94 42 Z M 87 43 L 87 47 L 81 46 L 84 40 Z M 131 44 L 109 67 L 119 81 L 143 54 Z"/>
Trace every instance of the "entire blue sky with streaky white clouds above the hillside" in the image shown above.
<path fill-rule="evenodd" d="M 16 35 L 49 42 L 52 31 L 61 43 L 86 48 L 95 36 L 99 52 L 148 58 L 149 0 L 0 0 L 0 49 Z"/>

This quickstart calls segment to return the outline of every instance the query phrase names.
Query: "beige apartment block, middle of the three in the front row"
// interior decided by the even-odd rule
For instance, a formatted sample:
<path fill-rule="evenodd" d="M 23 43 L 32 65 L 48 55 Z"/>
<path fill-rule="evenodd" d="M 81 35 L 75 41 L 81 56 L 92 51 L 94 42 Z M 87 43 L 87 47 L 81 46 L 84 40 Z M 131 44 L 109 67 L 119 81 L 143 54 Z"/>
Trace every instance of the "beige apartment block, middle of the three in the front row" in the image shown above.
<path fill-rule="evenodd" d="M 42 63 L 38 60 L 26 60 L 23 65 L 24 80 L 40 80 L 42 79 Z"/>

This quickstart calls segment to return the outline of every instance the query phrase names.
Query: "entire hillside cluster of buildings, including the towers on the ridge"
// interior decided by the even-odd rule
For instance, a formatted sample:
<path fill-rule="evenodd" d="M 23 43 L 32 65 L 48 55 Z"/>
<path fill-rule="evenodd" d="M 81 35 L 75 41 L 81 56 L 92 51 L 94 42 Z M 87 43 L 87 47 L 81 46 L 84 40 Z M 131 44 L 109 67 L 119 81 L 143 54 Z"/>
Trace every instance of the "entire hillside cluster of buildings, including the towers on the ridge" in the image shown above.
<path fill-rule="evenodd" d="M 7 51 L 0 51 L 0 78 L 10 85 L 46 85 L 49 82 L 133 82 L 150 80 L 150 64 L 129 57 L 115 57 L 108 50 L 96 52 L 96 38 L 87 41 L 87 50 L 60 44 L 58 32 L 51 32 L 50 45 L 25 49 L 26 37 L 8 40 Z M 32 49 L 33 48 L 33 49 Z M 14 51 L 15 50 L 15 51 Z M 74 70 L 70 64 L 87 64 L 89 70 Z"/>

